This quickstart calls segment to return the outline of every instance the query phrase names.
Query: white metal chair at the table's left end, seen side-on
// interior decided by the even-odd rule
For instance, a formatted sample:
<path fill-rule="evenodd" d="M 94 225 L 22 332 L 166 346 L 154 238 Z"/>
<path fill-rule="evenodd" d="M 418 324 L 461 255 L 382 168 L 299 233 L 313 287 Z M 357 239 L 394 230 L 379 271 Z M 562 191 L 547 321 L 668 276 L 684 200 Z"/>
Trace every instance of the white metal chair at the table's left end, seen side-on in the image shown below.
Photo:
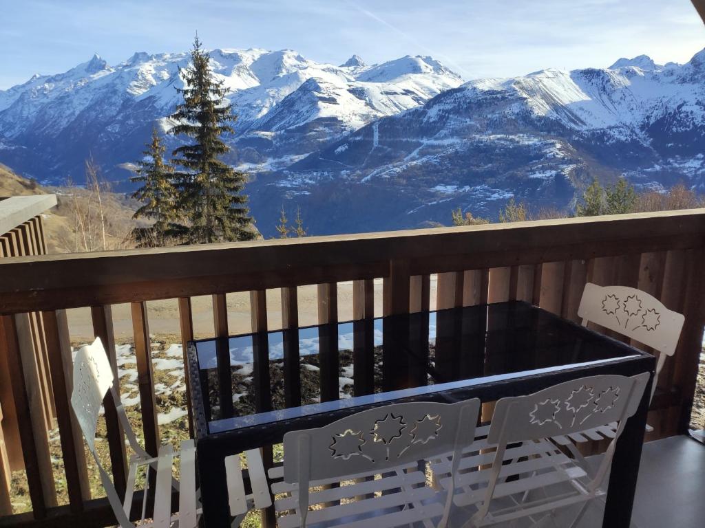
<path fill-rule="evenodd" d="M 135 454 L 130 458 L 127 491 L 124 503 L 120 501 L 118 493 L 111 481 L 109 474 L 104 470 L 97 455 L 95 446 L 95 433 L 97 420 L 106 394 L 110 393 L 115 401 L 118 418 L 127 436 L 130 447 Z M 154 520 L 145 523 L 145 509 L 147 505 L 147 489 L 142 501 L 142 523 L 140 527 L 167 528 L 178 523 L 178 528 L 195 528 L 200 509 L 197 508 L 196 475 L 195 475 L 195 444 L 193 440 L 181 443 L 180 451 L 180 482 L 172 477 L 173 458 L 178 456 L 170 444 L 159 448 L 159 454 L 154 457 L 140 446 L 133 432 L 125 409 L 120 401 L 120 396 L 114 385 L 114 375 L 108 357 L 100 339 L 92 344 L 83 346 L 76 354 L 73 363 L 73 392 L 71 393 L 71 406 L 75 413 L 78 425 L 85 437 L 89 451 L 92 453 L 100 472 L 100 479 L 105 489 L 111 507 L 121 528 L 133 528 L 130 522 L 130 509 L 133 504 L 135 492 L 135 479 L 137 469 L 147 466 L 149 470 L 157 472 L 157 484 L 154 490 Z M 149 479 L 147 479 L 147 487 Z M 171 515 L 172 490 L 179 491 L 179 511 Z"/>

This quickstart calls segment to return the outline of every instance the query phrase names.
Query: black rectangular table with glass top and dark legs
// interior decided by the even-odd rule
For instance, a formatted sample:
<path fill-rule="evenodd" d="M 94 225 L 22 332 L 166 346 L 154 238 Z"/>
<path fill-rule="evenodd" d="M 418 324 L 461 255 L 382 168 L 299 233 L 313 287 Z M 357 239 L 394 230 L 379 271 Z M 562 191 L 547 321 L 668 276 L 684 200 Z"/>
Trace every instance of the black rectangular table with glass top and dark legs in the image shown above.
<path fill-rule="evenodd" d="M 228 525 L 223 459 L 400 401 L 496 401 L 654 357 L 528 303 L 259 332 L 188 344 L 204 522 Z M 613 460 L 604 527 L 631 517 L 650 388 Z"/>

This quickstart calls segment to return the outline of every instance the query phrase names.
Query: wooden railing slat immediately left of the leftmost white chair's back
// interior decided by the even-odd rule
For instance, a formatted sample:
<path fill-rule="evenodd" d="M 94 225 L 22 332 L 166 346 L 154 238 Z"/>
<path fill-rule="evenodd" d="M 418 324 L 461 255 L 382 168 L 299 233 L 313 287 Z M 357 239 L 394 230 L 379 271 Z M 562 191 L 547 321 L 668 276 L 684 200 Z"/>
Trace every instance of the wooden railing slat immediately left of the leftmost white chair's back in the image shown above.
<path fill-rule="evenodd" d="M 47 333 L 51 377 L 54 381 L 52 387 L 56 403 L 56 420 L 59 422 L 61 436 L 68 501 L 71 511 L 80 512 L 83 510 L 83 502 L 90 499 L 90 485 L 83 437 L 71 408 L 73 356 L 71 339 L 68 336 L 68 321 L 64 310 L 44 312 L 42 316 Z"/>

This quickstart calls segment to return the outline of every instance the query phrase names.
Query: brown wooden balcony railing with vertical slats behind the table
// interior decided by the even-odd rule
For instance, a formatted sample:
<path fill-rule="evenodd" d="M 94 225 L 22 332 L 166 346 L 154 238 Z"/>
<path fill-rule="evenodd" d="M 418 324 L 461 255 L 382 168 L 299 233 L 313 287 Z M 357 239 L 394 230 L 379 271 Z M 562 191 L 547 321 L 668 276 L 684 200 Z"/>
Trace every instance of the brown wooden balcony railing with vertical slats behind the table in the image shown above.
<path fill-rule="evenodd" d="M 192 296 L 213 296 L 214 334 L 224 336 L 225 296 L 235 291 L 250 291 L 252 329 L 257 331 L 267 327 L 266 289 L 281 289 L 283 327 L 298 327 L 296 288 L 307 284 L 318 285 L 321 323 L 338 320 L 336 283 L 350 280 L 355 319 L 374 317 L 373 280 L 378 278 L 384 281 L 385 314 L 429 310 L 432 274 L 439 274 L 438 308 L 523 299 L 572 320 L 577 320 L 585 282 L 638 287 L 685 314 L 678 351 L 666 363 L 662 396 L 649 418 L 656 426 L 654 436 L 666 436 L 684 432 L 692 406 L 705 322 L 704 250 L 705 210 L 699 209 L 2 259 L 0 369 L 8 369 L 13 398 L 1 405 L 4 410 L 13 405 L 18 416 L 33 511 L 0 517 L 0 526 L 111 522 L 107 503 L 89 500 L 85 489 L 85 453 L 68 405 L 67 308 L 91 307 L 94 334 L 107 345 L 116 369 L 111 305 L 131 303 L 142 427 L 147 450 L 156 452 L 160 439 L 146 301 L 178 299 L 181 335 L 188 341 L 193 336 Z M 39 379 L 28 360 L 32 341 L 27 337 L 27 314 L 32 312 L 42 313 L 69 505 L 56 506 L 46 406 L 35 397 Z M 334 376 L 337 387 L 337 369 L 328 370 L 321 377 Z M 300 391 L 293 386 L 296 381 L 285 378 L 287 383 L 287 405 L 295 405 Z M 321 379 L 321 391 L 329 385 Z M 335 398 L 337 393 L 321 396 Z M 267 408 L 271 395 L 259 391 L 256 405 Z M 107 406 L 105 417 L 113 476 L 118 489 L 124 489 L 125 447 L 114 409 Z"/>

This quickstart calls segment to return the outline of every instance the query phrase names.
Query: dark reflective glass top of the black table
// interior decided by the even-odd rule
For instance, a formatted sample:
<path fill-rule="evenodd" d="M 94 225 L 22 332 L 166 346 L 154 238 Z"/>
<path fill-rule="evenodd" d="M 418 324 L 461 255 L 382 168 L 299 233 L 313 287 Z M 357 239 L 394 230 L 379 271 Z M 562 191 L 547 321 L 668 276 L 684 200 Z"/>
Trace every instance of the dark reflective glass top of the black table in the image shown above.
<path fill-rule="evenodd" d="M 208 434 L 639 355 L 523 302 L 195 341 Z"/>

